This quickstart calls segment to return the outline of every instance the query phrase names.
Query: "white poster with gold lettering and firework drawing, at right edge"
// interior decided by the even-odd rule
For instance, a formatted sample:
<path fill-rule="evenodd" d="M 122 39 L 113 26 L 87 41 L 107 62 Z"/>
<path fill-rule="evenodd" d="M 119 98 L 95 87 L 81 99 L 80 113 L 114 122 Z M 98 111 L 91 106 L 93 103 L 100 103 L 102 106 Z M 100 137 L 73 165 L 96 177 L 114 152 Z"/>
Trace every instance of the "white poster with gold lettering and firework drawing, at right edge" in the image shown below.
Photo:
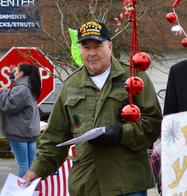
<path fill-rule="evenodd" d="M 187 195 L 187 112 L 165 116 L 161 136 L 162 195 Z"/>

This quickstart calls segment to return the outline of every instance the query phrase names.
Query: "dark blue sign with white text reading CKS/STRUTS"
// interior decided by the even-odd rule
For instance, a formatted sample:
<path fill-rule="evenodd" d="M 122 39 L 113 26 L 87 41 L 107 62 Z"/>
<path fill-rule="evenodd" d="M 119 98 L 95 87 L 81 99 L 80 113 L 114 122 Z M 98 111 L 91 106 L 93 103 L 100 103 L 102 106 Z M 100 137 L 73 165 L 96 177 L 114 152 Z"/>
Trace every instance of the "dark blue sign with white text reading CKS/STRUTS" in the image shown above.
<path fill-rule="evenodd" d="M 0 0 L 0 32 L 39 31 L 38 0 Z"/>

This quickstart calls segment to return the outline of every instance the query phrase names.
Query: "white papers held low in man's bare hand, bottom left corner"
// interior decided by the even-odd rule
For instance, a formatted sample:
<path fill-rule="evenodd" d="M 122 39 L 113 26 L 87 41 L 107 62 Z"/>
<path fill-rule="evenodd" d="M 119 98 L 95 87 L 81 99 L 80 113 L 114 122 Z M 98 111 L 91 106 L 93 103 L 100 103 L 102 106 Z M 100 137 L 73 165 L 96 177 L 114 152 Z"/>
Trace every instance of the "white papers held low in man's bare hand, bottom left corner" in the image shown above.
<path fill-rule="evenodd" d="M 37 178 L 32 181 L 29 186 L 25 185 L 25 180 L 15 176 L 14 174 L 9 174 L 0 196 L 38 196 L 35 191 L 41 178 Z"/>

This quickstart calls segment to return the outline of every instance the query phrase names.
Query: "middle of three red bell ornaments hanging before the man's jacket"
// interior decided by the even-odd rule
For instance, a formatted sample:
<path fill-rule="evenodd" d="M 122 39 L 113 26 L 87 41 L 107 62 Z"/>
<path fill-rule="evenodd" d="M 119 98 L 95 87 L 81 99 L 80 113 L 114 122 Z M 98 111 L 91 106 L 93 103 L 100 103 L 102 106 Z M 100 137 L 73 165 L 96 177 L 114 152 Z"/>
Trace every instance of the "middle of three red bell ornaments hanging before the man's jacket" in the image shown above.
<path fill-rule="evenodd" d="M 140 94 L 142 92 L 143 87 L 144 83 L 140 77 L 130 77 L 125 82 L 125 89 L 129 93 L 132 90 L 133 95 Z"/>

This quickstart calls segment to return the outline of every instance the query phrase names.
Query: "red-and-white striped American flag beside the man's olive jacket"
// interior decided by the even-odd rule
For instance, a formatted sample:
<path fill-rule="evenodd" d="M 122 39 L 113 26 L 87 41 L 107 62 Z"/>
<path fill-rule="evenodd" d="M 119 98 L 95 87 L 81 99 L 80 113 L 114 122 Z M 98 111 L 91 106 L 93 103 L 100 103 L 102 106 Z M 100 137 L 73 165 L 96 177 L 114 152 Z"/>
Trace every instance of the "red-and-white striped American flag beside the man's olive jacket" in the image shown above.
<path fill-rule="evenodd" d="M 75 156 L 75 146 L 71 146 L 69 157 Z M 53 175 L 39 183 L 39 196 L 69 196 L 68 175 L 72 161 L 67 159 Z"/>

